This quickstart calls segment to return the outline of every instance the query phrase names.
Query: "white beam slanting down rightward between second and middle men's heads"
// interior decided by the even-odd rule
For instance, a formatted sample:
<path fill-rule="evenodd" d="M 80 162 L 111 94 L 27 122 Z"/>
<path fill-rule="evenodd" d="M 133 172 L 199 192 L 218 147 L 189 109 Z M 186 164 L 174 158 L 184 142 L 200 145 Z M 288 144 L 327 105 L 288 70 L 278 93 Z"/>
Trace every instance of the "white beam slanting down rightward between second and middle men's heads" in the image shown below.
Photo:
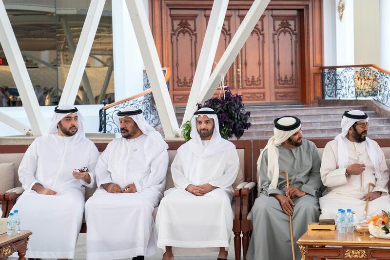
<path fill-rule="evenodd" d="M 145 64 L 146 73 L 148 74 L 165 137 L 174 137 L 178 134 L 179 126 L 171 98 L 169 97 L 164 74 L 161 70 L 161 63 L 158 59 L 155 41 L 153 40 L 145 8 L 140 0 L 126 0 L 126 4 L 137 36 L 138 46 Z"/>

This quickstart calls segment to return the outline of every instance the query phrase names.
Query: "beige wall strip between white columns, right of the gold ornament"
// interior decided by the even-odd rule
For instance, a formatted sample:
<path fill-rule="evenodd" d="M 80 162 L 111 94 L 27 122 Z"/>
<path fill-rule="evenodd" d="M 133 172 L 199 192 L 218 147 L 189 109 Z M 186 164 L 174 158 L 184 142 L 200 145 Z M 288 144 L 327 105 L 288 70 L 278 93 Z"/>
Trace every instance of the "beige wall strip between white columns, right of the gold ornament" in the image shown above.
<path fill-rule="evenodd" d="M 353 4 L 355 64 L 379 65 L 379 0 Z"/>

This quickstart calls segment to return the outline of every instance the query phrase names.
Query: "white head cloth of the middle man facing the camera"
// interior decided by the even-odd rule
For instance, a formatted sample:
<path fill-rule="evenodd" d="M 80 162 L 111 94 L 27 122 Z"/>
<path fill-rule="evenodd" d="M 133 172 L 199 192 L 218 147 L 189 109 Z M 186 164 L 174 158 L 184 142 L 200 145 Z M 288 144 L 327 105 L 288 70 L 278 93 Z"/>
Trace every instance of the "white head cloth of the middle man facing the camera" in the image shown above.
<path fill-rule="evenodd" d="M 202 111 L 214 111 L 212 108 L 209 107 L 203 107 L 198 110 L 198 112 Z M 207 113 L 207 112 L 206 112 Z M 214 120 L 214 132 L 210 139 L 209 144 L 204 147 L 202 144 L 202 140 L 200 139 L 200 135 L 196 128 L 196 118 L 197 117 L 203 117 L 207 116 L 210 119 Z M 199 157 L 207 157 L 212 156 L 217 153 L 220 153 L 222 151 L 225 151 L 232 145 L 234 145 L 232 142 L 225 140 L 221 137 L 221 134 L 219 133 L 219 122 L 218 117 L 216 114 L 197 114 L 194 115 L 191 119 L 191 140 L 189 140 L 188 147 L 191 152 L 193 152 L 195 155 Z"/>

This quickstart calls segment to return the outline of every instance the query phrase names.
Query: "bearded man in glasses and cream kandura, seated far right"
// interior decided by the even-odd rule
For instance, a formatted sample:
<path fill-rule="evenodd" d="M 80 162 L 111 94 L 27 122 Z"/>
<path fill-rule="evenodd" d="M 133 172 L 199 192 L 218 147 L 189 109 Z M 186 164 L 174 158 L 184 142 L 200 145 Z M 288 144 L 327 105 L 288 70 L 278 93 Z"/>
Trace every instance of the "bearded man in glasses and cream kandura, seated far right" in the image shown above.
<path fill-rule="evenodd" d="M 320 219 L 334 219 L 338 208 L 350 208 L 357 217 L 390 210 L 389 169 L 378 143 L 367 137 L 369 117 L 360 110 L 345 111 L 342 132 L 328 142 L 322 155 L 321 179 L 327 189 L 320 198 Z M 375 184 L 368 194 L 369 183 Z"/>

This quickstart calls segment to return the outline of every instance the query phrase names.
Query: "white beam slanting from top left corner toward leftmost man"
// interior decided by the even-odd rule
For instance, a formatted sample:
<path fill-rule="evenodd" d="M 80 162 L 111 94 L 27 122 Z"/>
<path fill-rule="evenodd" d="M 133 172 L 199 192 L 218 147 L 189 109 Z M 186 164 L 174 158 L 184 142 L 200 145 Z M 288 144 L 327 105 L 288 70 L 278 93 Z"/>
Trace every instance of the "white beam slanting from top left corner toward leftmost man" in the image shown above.
<path fill-rule="evenodd" d="M 3 1 L 0 1 L 0 43 L 18 88 L 27 118 L 30 121 L 33 134 L 43 135 L 46 133 L 46 126 Z"/>

